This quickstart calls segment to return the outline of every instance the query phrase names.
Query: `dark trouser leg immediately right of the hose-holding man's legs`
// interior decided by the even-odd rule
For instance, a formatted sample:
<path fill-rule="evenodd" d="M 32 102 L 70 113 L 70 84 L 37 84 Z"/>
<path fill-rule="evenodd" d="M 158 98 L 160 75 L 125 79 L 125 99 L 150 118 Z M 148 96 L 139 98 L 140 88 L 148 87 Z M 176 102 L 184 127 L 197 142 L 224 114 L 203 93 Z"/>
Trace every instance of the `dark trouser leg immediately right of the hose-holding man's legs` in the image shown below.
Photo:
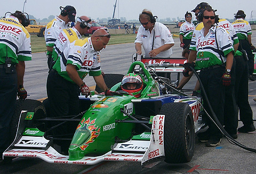
<path fill-rule="evenodd" d="M 224 107 L 224 125 L 229 134 L 237 133 L 238 126 L 238 108 L 235 97 L 236 82 L 236 60 L 234 59 L 230 72 L 231 85 L 225 87 L 225 107 Z"/>

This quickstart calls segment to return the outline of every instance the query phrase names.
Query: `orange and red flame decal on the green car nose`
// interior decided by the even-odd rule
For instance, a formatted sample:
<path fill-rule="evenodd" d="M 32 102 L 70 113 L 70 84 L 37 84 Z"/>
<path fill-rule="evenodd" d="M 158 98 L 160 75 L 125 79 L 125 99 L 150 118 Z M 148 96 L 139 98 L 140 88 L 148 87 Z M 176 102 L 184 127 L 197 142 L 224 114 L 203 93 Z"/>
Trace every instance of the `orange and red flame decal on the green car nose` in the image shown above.
<path fill-rule="evenodd" d="M 95 125 L 95 120 L 90 120 L 91 118 L 89 117 L 87 120 L 85 120 L 85 118 L 83 118 L 79 125 L 77 126 L 77 129 L 82 128 L 82 127 L 86 127 L 86 129 L 88 131 L 90 131 L 90 138 L 86 140 L 86 142 L 84 142 L 81 146 L 79 146 L 79 148 L 84 151 L 85 148 L 87 146 L 89 146 L 90 143 L 94 142 L 94 139 L 97 138 L 100 135 L 100 127 L 98 128 L 98 126 L 96 127 Z"/>

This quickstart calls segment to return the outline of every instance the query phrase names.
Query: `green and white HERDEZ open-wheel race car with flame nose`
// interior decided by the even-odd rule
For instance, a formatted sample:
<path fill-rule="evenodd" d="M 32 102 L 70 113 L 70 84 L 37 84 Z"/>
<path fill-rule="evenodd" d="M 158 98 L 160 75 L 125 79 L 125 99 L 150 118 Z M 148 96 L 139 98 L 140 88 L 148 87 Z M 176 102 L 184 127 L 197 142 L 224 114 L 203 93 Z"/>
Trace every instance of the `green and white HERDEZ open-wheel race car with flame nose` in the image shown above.
<path fill-rule="evenodd" d="M 118 74 L 119 79 L 114 75 L 109 77 L 111 83 L 118 82 L 110 90 L 121 95 L 79 96 L 83 112 L 70 117 L 47 117 L 47 104 L 18 100 L 11 125 L 14 140 L 4 157 L 86 165 L 134 161 L 145 167 L 153 167 L 162 160 L 189 162 L 194 154 L 195 132 L 204 125 L 199 115 L 202 98 L 179 93 L 170 81 L 153 78 L 150 71 L 144 63 L 135 61 L 127 72 L 141 77 L 140 96 L 124 91 L 120 80 L 123 75 Z M 75 132 L 67 128 L 71 138 L 70 134 L 51 134 L 61 125 L 74 122 L 78 125 Z M 70 141 L 68 155 L 58 146 L 63 140 Z"/>

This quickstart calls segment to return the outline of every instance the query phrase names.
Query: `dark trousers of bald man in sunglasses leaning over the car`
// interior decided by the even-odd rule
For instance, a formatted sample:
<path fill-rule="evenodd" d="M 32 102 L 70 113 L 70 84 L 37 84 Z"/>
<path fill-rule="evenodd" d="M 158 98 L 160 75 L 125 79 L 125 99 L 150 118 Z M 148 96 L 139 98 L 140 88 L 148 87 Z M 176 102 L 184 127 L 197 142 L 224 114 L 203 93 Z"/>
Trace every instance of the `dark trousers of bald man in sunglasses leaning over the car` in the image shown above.
<path fill-rule="evenodd" d="M 79 113 L 78 86 L 76 84 L 62 78 L 57 71 L 51 70 L 47 78 L 46 88 L 51 105 L 50 117 L 63 117 Z M 66 122 L 55 128 L 52 133 L 54 136 L 67 137 L 68 134 L 74 134 L 76 127 L 75 122 Z M 70 141 L 59 141 L 58 143 L 61 145 L 61 151 L 68 150 Z"/>

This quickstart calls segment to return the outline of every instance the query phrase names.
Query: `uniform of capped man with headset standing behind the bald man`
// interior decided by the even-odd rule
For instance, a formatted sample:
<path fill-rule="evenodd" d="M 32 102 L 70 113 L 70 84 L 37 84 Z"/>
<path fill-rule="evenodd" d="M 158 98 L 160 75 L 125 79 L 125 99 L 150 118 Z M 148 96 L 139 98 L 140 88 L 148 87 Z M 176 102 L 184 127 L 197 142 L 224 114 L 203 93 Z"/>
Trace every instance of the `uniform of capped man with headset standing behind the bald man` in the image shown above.
<path fill-rule="evenodd" d="M 49 22 L 44 31 L 44 38 L 46 46 L 53 47 L 55 41 L 57 40 L 61 30 L 68 28 L 68 24 L 65 23 L 62 19 L 55 16 L 55 18 Z M 48 56 L 48 67 L 50 69 L 52 63 L 52 52 L 47 51 Z"/>

